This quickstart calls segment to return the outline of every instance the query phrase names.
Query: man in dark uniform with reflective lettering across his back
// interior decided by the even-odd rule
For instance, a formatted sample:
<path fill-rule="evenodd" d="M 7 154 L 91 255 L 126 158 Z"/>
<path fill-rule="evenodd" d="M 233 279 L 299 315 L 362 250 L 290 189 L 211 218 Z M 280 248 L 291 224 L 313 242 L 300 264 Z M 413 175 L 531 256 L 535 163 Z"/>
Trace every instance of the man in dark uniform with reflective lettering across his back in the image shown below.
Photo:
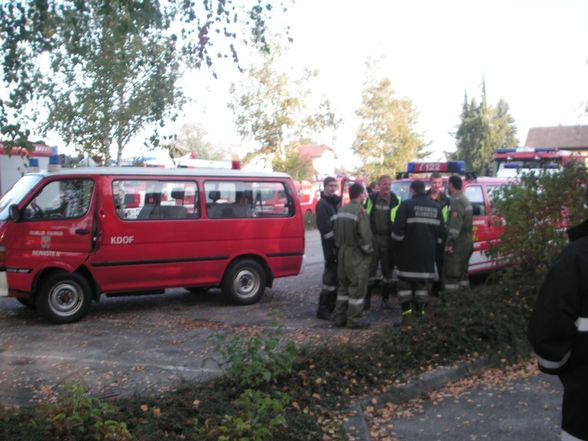
<path fill-rule="evenodd" d="M 425 183 L 413 181 L 410 194 L 398 208 L 392 231 L 403 318 L 425 314 L 431 283 L 439 276 L 437 247 L 445 234 L 441 208 L 425 194 Z"/>

